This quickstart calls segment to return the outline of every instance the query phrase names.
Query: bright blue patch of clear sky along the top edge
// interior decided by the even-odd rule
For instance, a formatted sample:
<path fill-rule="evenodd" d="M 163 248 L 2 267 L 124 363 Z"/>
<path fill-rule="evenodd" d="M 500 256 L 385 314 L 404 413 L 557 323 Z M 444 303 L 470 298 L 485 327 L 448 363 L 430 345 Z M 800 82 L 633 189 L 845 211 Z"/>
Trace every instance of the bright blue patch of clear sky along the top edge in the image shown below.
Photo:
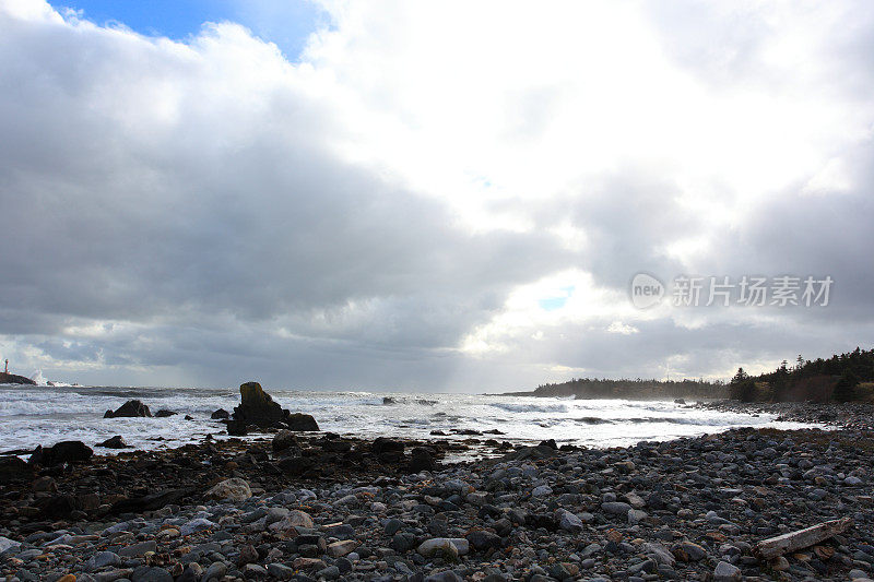
<path fill-rule="evenodd" d="M 297 60 L 309 35 L 329 23 L 326 12 L 306 0 L 54 0 L 55 9 L 71 9 L 98 25 L 121 24 L 146 36 L 174 40 L 197 35 L 205 22 L 236 22 L 285 57 Z"/>

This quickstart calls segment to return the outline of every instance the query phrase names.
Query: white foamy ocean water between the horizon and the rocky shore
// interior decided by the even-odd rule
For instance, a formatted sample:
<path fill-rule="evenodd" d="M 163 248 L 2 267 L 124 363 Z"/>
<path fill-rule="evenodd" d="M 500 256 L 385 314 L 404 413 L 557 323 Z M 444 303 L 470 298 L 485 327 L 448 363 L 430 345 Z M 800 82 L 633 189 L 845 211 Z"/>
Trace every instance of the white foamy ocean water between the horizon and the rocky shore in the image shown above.
<path fill-rule="evenodd" d="M 304 392 L 268 390 L 292 412 L 311 414 L 321 430 L 374 438 L 433 439 L 452 429 L 500 430 L 485 438 L 512 443 L 555 439 L 606 448 L 641 440 L 668 440 L 720 432 L 734 427 L 803 428 L 773 415 L 705 411 L 670 401 L 570 400 L 474 394 Z M 167 418 L 103 418 L 130 399 L 143 401 Z M 391 399 L 391 400 L 385 400 Z M 210 419 L 217 408 L 232 412 L 238 389 L 0 385 L 0 452 L 81 440 L 94 447 L 115 435 L 138 449 L 179 447 L 206 435 L 227 438 L 224 425 Z M 190 415 L 193 420 L 185 420 Z M 439 437 L 445 438 L 445 437 Z M 446 438 L 464 439 L 449 435 Z M 96 449 L 114 454 L 109 449 Z"/>

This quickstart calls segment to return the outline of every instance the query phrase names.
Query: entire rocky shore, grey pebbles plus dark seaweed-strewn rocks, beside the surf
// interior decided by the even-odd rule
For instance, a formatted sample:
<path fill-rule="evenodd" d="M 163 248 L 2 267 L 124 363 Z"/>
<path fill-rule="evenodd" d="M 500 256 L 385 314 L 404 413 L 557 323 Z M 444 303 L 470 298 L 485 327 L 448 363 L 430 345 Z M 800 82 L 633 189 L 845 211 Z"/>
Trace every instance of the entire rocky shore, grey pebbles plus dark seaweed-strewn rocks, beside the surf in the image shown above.
<path fill-rule="evenodd" d="M 414 449 L 440 461 L 452 447 L 484 444 L 404 441 L 399 453 L 373 440 L 297 433 L 294 454 L 274 451 L 265 435 L 95 456 L 2 485 L 0 574 L 134 582 L 871 575 L 870 406 L 696 406 L 834 428 L 734 429 L 612 449 L 517 447 L 424 473 L 411 473 Z M 236 500 L 208 495 L 226 479 L 247 484 L 241 494 L 225 488 Z M 813 548 L 777 560 L 754 551 L 768 537 L 846 516 L 854 527 Z"/>

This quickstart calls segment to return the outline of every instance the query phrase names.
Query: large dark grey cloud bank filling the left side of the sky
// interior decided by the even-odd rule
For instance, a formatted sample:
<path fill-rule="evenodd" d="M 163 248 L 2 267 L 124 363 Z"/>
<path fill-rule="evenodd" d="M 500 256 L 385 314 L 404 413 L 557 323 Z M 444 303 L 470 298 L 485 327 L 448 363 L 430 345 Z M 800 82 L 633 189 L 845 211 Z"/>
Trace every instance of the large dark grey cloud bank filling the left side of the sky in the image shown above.
<path fill-rule="evenodd" d="M 233 79 L 199 80 L 205 90 L 191 80 L 202 55 L 87 27 L 3 25 L 0 334 L 36 334 L 51 358 L 202 369 L 279 359 L 315 380 L 314 352 L 376 368 L 452 347 L 515 284 L 570 260 L 545 235 L 469 234 L 445 204 L 330 155 L 319 141 L 330 119 L 291 84 L 223 100 L 208 93 Z M 155 85 L 163 105 L 135 95 Z M 87 345 L 38 340 L 88 320 L 139 326 Z M 361 343 L 376 353 L 356 354 Z M 343 375 L 352 368 L 366 366 Z"/>

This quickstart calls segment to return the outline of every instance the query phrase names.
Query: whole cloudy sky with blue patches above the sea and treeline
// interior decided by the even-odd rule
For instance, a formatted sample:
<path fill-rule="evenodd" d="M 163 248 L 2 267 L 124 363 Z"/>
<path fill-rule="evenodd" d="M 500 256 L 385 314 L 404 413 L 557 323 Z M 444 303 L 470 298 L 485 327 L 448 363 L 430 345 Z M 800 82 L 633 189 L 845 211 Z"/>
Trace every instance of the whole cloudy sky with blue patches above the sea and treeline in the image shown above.
<path fill-rule="evenodd" d="M 0 0 L 0 135 L 27 376 L 485 392 L 874 343 L 870 2 Z"/>

